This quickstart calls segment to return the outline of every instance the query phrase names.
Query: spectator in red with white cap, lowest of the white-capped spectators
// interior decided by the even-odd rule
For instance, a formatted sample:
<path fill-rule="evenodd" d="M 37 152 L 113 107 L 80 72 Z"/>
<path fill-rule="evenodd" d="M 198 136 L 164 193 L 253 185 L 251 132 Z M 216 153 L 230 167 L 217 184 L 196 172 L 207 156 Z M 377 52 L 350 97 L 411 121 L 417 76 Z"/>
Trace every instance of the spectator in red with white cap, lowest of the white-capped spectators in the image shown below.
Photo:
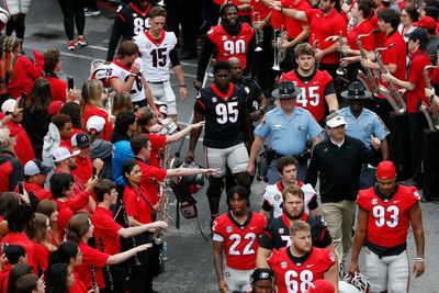
<path fill-rule="evenodd" d="M 38 159 L 30 160 L 24 165 L 24 189 L 30 194 L 33 194 L 38 201 L 50 200 L 52 193 L 44 189 L 47 173 L 52 167 L 44 166 Z"/>

